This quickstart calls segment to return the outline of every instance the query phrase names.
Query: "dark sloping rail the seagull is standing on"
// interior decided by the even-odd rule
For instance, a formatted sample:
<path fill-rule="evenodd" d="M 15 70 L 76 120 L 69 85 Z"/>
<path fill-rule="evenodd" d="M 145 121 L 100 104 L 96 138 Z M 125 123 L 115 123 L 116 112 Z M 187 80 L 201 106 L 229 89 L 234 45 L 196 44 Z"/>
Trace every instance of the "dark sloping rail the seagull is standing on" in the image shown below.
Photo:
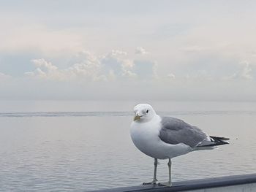
<path fill-rule="evenodd" d="M 159 185 L 138 185 L 132 187 L 98 190 L 97 192 L 110 191 L 256 191 L 256 174 L 241 174 L 226 177 L 214 177 L 201 180 L 187 180 L 181 182 L 174 182 L 173 186 L 170 188 Z"/>

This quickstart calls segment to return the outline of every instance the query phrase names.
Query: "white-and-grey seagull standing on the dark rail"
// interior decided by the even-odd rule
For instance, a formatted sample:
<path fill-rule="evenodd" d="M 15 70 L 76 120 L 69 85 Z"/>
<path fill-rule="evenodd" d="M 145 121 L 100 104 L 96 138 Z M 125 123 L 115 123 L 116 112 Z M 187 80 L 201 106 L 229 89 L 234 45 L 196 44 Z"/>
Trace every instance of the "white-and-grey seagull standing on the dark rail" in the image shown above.
<path fill-rule="evenodd" d="M 158 185 L 172 186 L 171 159 L 194 150 L 213 149 L 217 145 L 229 144 L 225 137 L 212 137 L 200 128 L 184 120 L 160 117 L 150 104 L 138 104 L 130 128 L 134 145 L 146 155 L 154 158 L 153 181 L 143 185 L 157 184 L 157 159 L 168 159 L 169 180 Z"/>

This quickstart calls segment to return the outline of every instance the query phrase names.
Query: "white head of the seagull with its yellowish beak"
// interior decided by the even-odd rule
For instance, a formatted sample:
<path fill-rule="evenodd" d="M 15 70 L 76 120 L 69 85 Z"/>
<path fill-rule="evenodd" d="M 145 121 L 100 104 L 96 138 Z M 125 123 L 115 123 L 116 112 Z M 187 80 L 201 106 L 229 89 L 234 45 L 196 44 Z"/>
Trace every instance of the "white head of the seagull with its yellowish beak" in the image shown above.
<path fill-rule="evenodd" d="M 135 122 L 146 122 L 154 118 L 156 112 L 150 104 L 138 104 L 134 108 L 135 117 L 133 120 Z"/>

